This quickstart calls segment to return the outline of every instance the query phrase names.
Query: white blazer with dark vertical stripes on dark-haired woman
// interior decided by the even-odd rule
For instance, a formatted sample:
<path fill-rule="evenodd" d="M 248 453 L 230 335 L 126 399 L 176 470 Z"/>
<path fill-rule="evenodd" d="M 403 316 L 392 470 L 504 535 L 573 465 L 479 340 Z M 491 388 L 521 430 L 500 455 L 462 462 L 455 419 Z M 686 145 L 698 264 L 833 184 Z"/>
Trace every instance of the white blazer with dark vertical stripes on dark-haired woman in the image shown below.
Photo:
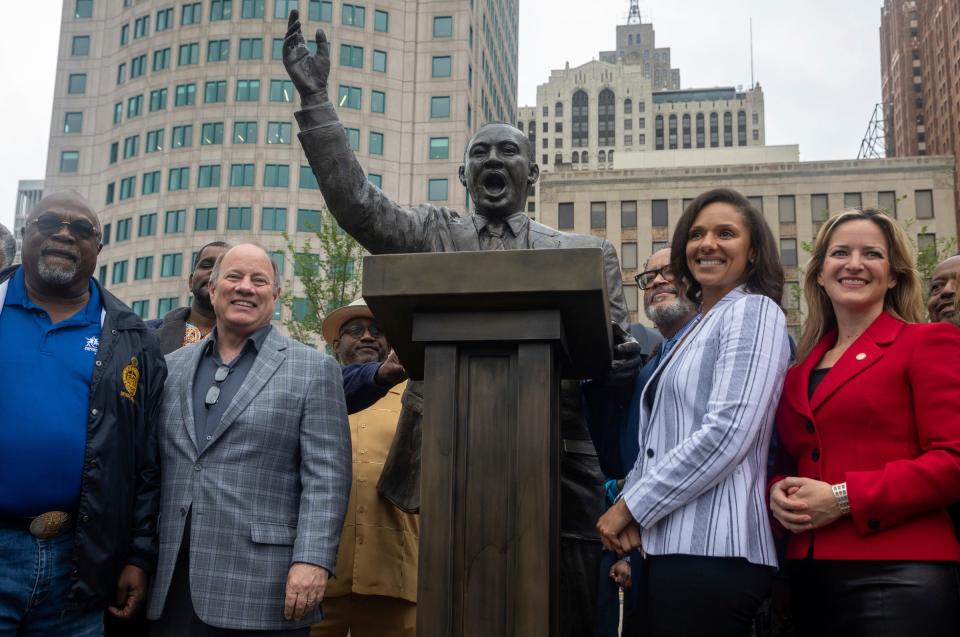
<path fill-rule="evenodd" d="M 739 287 L 634 395 L 641 401 L 640 455 L 623 498 L 647 553 L 776 566 L 767 454 L 789 359 L 783 311 Z"/>

